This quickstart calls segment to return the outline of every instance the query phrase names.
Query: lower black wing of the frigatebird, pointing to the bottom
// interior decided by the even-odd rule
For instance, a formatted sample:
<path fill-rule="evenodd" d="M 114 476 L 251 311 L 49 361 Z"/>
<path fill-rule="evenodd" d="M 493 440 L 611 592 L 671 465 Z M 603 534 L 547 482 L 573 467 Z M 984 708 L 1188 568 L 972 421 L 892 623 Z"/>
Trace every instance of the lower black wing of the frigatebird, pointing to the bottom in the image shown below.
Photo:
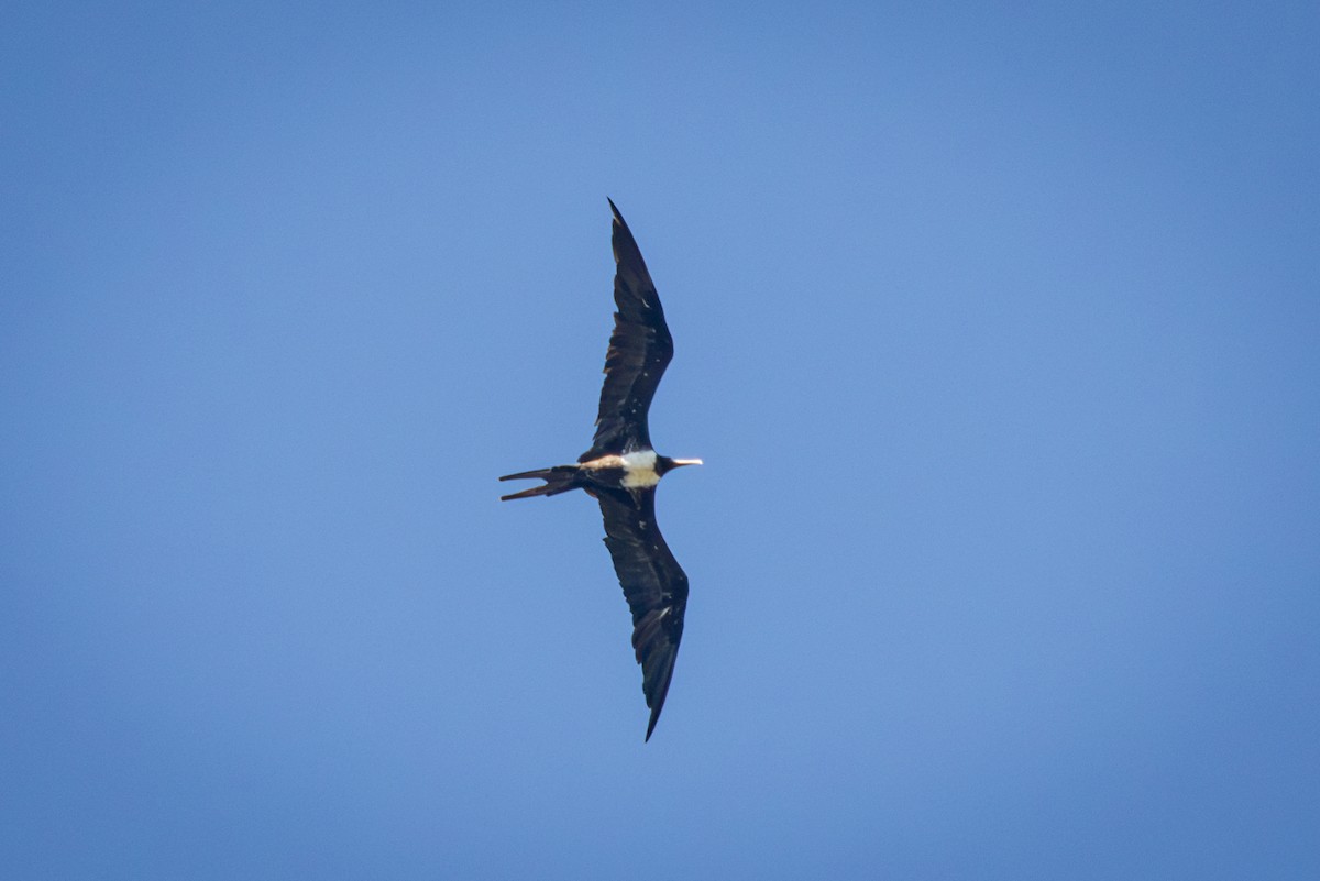
<path fill-rule="evenodd" d="M 655 489 L 639 495 L 640 505 L 626 489 L 599 489 L 597 497 L 605 516 L 605 545 L 632 611 L 632 648 L 642 665 L 642 691 L 651 707 L 647 724 L 651 740 L 678 657 L 688 576 L 656 525 Z"/>

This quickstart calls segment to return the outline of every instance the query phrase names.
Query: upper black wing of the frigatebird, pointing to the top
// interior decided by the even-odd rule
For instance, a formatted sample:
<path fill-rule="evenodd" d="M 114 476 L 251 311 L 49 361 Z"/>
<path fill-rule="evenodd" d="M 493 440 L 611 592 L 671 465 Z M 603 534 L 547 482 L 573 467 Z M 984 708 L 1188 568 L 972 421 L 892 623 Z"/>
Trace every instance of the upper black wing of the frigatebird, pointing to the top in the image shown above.
<path fill-rule="evenodd" d="M 595 419 L 595 438 L 591 448 L 578 462 L 595 459 L 607 452 L 630 452 L 651 447 L 647 411 L 655 397 L 664 368 L 673 357 L 673 338 L 664 320 L 660 294 L 651 281 L 647 264 L 642 260 L 638 243 L 614 211 L 614 334 L 605 356 L 605 386 L 601 389 L 601 410 Z"/>

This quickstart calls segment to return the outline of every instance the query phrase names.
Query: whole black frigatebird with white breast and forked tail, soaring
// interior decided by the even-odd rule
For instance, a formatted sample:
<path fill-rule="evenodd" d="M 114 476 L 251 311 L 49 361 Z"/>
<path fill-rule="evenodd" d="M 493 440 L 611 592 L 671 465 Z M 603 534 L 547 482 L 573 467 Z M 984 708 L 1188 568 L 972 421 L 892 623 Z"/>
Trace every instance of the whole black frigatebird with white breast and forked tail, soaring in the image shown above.
<path fill-rule="evenodd" d="M 605 356 L 605 388 L 591 448 L 577 464 L 506 475 L 500 480 L 544 480 L 510 499 L 556 496 L 585 489 L 601 502 L 605 543 L 632 611 L 632 648 L 642 665 L 642 691 L 651 708 L 647 740 L 656 728 L 673 662 L 682 638 L 688 605 L 688 576 L 673 558 L 656 525 L 656 485 L 665 472 L 700 466 L 701 459 L 671 459 L 651 447 L 647 411 L 664 368 L 673 357 L 673 338 L 664 322 L 660 295 L 642 260 L 638 243 L 610 200 L 614 212 L 614 334 Z"/>

